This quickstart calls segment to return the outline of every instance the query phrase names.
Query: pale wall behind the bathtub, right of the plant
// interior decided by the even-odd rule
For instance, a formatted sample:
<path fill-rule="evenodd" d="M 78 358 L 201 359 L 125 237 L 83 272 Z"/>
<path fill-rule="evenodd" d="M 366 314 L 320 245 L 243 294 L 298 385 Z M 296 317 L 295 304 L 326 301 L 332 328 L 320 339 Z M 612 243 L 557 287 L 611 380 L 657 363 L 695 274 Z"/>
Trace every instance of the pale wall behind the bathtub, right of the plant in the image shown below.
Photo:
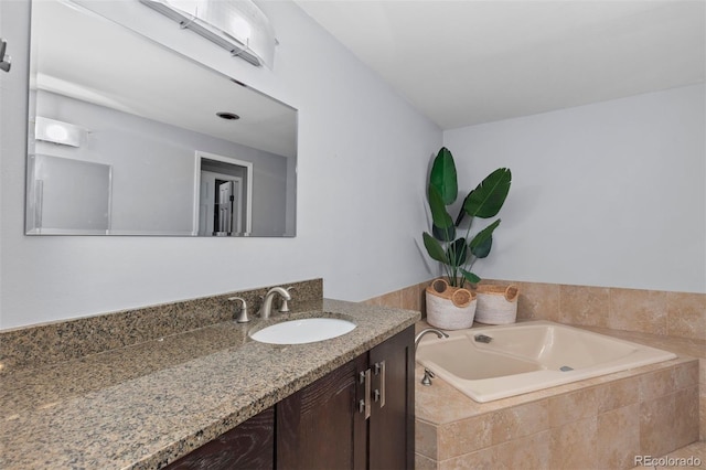
<path fill-rule="evenodd" d="M 513 183 L 481 277 L 706 292 L 704 84 L 446 131 Z"/>

